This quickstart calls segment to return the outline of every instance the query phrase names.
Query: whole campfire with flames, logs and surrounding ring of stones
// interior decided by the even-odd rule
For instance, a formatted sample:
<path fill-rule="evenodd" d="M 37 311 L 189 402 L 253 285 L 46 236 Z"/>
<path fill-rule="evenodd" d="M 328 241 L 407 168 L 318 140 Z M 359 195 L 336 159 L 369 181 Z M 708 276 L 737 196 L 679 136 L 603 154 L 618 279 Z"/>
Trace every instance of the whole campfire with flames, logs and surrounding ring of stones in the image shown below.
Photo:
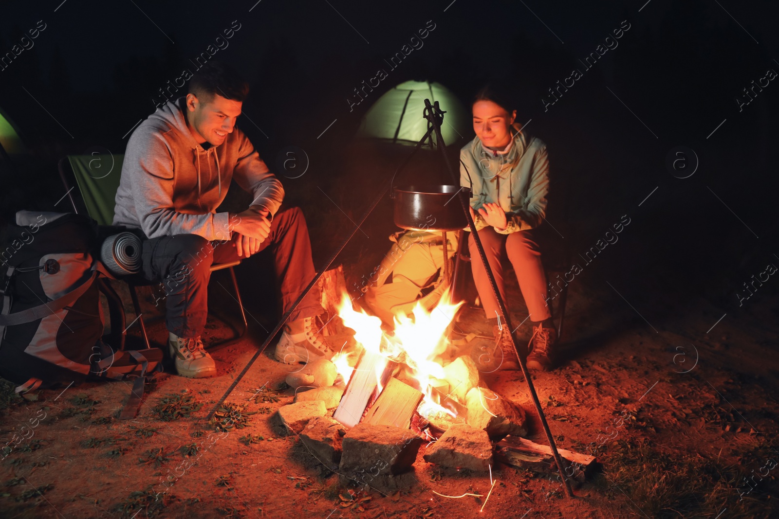
<path fill-rule="evenodd" d="M 555 472 L 549 447 L 523 438 L 523 409 L 485 387 L 471 356 L 449 342 L 461 305 L 449 293 L 432 310 L 417 304 L 398 314 L 392 330 L 354 309 L 344 291 L 337 299 L 330 307 L 351 340 L 332 361 L 291 373 L 294 403 L 278 412 L 317 461 L 382 492 L 414 484 L 420 450 L 448 468 L 488 472 L 498 460 Z M 560 452 L 577 478 L 593 465 L 592 457 Z"/>

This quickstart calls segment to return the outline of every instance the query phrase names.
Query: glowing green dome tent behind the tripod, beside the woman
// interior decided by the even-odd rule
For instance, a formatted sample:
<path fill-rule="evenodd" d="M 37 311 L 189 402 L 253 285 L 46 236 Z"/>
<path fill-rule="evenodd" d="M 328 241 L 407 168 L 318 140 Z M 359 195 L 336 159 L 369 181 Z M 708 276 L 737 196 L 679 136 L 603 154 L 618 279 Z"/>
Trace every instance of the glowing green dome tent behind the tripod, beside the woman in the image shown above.
<path fill-rule="evenodd" d="M 441 134 L 447 145 L 456 144 L 471 133 L 471 113 L 441 83 L 406 81 L 379 97 L 362 118 L 357 136 L 393 144 L 415 145 L 428 129 L 423 117 L 425 99 L 439 102 L 443 116 Z"/>

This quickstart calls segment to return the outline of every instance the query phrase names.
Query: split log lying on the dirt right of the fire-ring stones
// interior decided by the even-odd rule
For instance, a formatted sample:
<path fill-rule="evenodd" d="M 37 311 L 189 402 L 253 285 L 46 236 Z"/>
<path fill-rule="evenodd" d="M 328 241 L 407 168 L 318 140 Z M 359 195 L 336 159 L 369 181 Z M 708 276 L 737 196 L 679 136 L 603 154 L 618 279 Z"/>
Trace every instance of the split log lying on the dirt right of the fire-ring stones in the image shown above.
<path fill-rule="evenodd" d="M 597 458 L 587 454 L 558 449 L 566 474 L 578 482 L 584 482 L 597 469 Z M 559 474 L 552 448 L 548 445 L 534 444 L 519 437 L 506 437 L 495 445 L 495 458 L 513 467 L 530 468 L 535 472 L 549 475 Z"/>

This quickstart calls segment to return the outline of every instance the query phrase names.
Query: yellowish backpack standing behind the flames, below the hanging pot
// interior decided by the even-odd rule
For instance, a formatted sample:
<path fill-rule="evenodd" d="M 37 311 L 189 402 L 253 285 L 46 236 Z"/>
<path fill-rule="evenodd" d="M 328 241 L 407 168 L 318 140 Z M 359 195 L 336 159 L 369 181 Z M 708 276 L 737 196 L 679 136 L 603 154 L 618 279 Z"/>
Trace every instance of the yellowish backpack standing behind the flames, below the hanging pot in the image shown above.
<path fill-rule="evenodd" d="M 390 252 L 359 287 L 365 306 L 384 324 L 393 326 L 395 314 L 411 314 L 417 302 L 432 310 L 449 288 L 439 273 L 444 265 L 443 237 L 439 232 L 407 230 L 394 233 Z M 446 261 L 452 272 L 457 233 L 446 233 Z"/>

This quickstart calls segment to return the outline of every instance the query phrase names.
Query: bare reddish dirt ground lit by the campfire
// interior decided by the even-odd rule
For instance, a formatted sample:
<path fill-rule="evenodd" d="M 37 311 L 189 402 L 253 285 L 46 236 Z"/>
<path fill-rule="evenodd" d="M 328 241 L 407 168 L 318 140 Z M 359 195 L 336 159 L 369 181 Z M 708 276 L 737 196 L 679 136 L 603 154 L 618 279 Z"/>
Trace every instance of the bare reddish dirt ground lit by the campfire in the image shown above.
<path fill-rule="evenodd" d="M 510 466 L 496 465 L 492 475 L 436 468 L 422 459 L 425 447 L 414 465 L 410 491 L 384 495 L 348 485 L 312 461 L 296 437 L 284 437 L 274 428 L 273 412 L 292 401 L 292 391 L 257 390 L 278 387 L 293 368 L 273 360 L 272 346 L 227 398 L 255 414 L 243 415 L 241 428 L 218 431 L 206 423 L 206 414 L 256 352 L 265 337 L 263 328 L 273 325 L 268 316 L 250 315 L 247 338 L 214 353 L 218 377 L 189 380 L 158 374 L 147 386 L 136 419 L 117 419 L 129 383 L 40 391 L 33 402 L 19 402 L 5 391 L 3 443 L 14 434 L 21 440 L 3 451 L 0 514 L 774 517 L 779 507 L 771 496 L 776 490 L 773 468 L 779 453 L 771 440 L 777 432 L 774 374 L 779 366 L 770 347 L 777 334 L 766 323 L 776 317 L 777 300 L 754 307 L 762 314 L 740 317 L 738 329 L 730 321 L 717 324 L 715 332 L 697 338 L 693 346 L 684 335 L 653 331 L 624 304 L 601 305 L 593 321 L 592 307 L 608 300 L 608 293 L 581 284 L 570 289 L 564 360 L 552 372 L 534 373 L 533 382 L 558 446 L 593 454 L 603 464 L 601 474 L 576 488 L 573 499 L 553 478 Z M 509 305 L 522 309 L 518 297 L 518 291 L 509 291 Z M 223 303 L 231 302 L 225 298 Z M 705 329 L 719 310 L 701 304 L 700 326 Z M 143 305 L 153 314 L 151 293 Z M 522 311 L 513 316 L 517 323 L 527 317 Z M 486 333 L 481 316 L 481 310 L 466 307 L 455 331 Z M 134 318 L 132 313 L 128 317 Z M 670 321 L 665 324 L 665 329 L 673 328 Z M 211 317 L 208 328 L 206 343 L 230 333 Z M 583 329 L 588 338 L 571 340 Z M 163 323 L 153 323 L 150 334 L 164 338 Z M 527 323 L 520 334 L 529 338 Z M 478 355 L 484 345 L 480 340 L 462 349 Z M 530 438 L 545 443 L 521 373 L 483 377 L 489 387 L 527 410 L 533 423 Z M 182 414 L 191 412 L 189 416 L 171 419 L 173 408 L 162 401 L 174 395 L 189 397 L 178 401 L 184 405 L 173 406 Z M 463 494 L 480 496 L 457 497 Z"/>

